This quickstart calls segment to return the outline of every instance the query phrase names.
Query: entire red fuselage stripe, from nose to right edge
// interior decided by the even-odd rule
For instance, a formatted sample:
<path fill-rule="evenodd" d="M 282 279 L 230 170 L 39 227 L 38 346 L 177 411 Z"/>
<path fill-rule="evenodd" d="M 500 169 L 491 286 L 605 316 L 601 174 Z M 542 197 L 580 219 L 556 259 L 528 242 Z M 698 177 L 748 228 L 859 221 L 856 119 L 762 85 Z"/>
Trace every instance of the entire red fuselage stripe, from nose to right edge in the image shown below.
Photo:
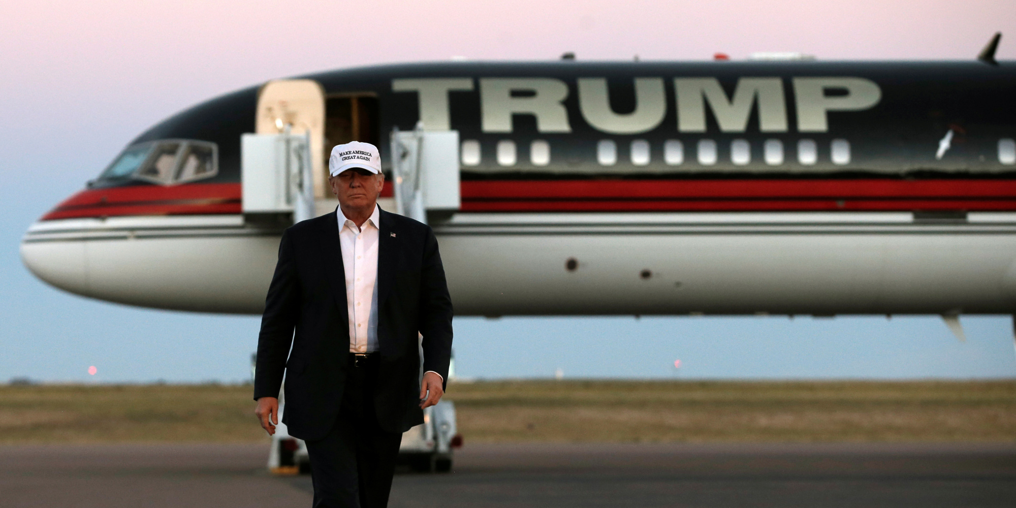
<path fill-rule="evenodd" d="M 391 194 L 386 182 L 382 196 Z M 1016 180 L 485 180 L 462 211 L 1016 210 Z M 43 216 L 241 213 L 240 184 L 78 192 Z"/>

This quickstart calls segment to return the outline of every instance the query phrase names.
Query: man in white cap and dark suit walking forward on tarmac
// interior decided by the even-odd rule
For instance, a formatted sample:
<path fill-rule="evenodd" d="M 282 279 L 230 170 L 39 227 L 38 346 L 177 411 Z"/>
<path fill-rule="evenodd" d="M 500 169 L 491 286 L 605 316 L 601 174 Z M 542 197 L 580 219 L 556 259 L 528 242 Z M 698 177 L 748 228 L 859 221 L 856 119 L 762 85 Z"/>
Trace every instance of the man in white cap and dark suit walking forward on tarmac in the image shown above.
<path fill-rule="evenodd" d="M 384 508 L 402 433 L 444 394 L 451 300 L 431 229 L 377 206 L 377 147 L 335 146 L 328 171 L 338 208 L 285 230 L 278 247 L 256 414 L 273 434 L 284 371 L 282 422 L 307 442 L 314 506 Z"/>

